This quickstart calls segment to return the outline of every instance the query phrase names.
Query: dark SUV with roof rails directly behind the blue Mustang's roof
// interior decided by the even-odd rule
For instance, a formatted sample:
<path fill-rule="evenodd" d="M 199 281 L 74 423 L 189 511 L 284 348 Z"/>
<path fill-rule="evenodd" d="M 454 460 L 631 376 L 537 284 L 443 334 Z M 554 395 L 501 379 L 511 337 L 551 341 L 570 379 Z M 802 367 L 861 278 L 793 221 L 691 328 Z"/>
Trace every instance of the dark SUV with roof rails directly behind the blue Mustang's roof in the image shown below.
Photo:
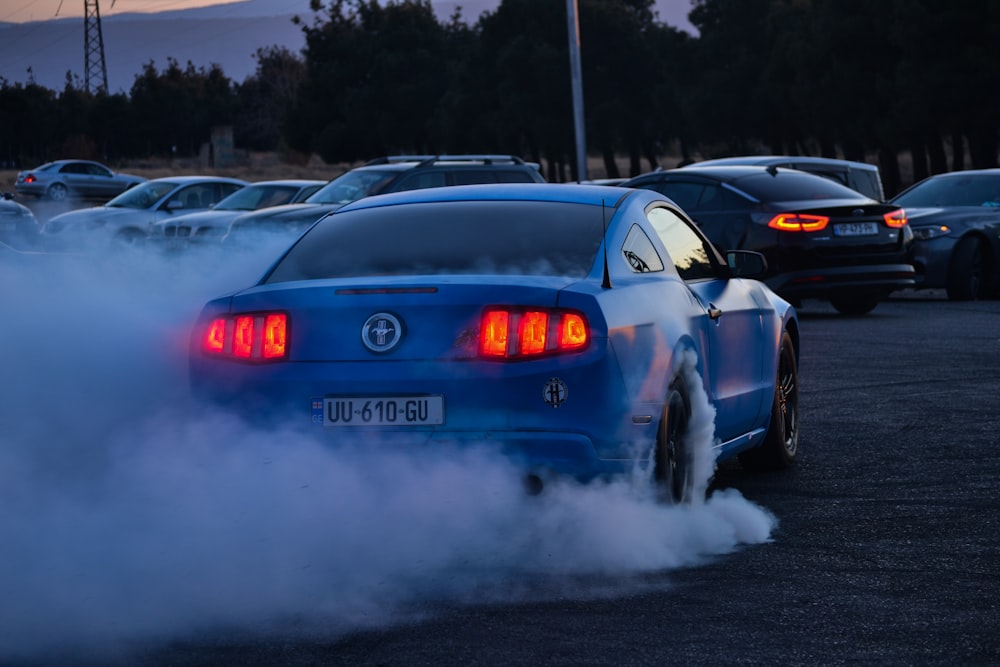
<path fill-rule="evenodd" d="M 327 213 L 375 194 L 473 183 L 542 183 L 537 164 L 513 155 L 395 155 L 341 174 L 305 200 L 233 220 L 223 243 L 254 246 L 262 237 L 293 239 Z"/>

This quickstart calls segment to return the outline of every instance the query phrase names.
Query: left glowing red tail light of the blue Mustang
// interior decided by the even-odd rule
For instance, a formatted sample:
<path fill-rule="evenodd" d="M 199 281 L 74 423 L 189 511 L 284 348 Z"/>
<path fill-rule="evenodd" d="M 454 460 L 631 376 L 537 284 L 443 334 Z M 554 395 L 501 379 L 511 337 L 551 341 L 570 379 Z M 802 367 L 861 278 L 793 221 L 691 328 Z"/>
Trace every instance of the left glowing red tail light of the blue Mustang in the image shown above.
<path fill-rule="evenodd" d="M 202 351 L 233 359 L 276 361 L 288 356 L 288 315 L 243 313 L 219 317 L 205 328 Z"/>

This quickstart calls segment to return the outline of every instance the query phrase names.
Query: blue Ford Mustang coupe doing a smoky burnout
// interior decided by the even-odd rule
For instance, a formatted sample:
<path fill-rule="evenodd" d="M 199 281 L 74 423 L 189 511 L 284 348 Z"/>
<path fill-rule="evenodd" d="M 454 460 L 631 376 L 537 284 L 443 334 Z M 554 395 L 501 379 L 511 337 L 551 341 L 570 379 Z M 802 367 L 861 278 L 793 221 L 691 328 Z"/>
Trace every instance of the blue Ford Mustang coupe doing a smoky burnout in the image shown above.
<path fill-rule="evenodd" d="M 688 426 L 717 460 L 798 447 L 795 310 L 669 199 L 580 184 L 433 188 L 348 204 L 192 334 L 196 396 L 331 441 L 477 443 L 540 489 L 653 468 L 692 497 Z M 699 386 L 700 385 L 700 386 Z"/>

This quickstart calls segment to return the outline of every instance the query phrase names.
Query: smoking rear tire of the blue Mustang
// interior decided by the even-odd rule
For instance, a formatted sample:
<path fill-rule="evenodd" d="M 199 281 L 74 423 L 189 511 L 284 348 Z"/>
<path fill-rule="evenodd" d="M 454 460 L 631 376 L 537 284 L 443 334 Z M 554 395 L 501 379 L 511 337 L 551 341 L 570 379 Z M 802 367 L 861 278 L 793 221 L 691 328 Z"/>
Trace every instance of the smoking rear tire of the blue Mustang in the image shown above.
<path fill-rule="evenodd" d="M 691 402 L 684 382 L 675 380 L 667 392 L 656 434 L 653 480 L 660 502 L 689 503 L 694 488 L 694 460 L 688 442 Z"/>

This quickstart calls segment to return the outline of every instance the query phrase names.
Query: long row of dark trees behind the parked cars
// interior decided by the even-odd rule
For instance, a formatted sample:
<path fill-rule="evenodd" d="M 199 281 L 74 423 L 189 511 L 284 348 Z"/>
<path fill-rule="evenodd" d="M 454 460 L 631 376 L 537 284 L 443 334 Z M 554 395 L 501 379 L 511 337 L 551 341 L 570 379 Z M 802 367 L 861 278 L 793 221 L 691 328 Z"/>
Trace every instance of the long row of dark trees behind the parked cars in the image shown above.
<path fill-rule="evenodd" d="M 262 48 L 242 82 L 174 60 L 113 95 L 0 78 L 0 162 L 192 155 L 231 125 L 238 148 L 329 163 L 516 153 L 576 180 L 565 0 L 502 0 L 474 23 L 429 0 L 310 9 L 302 52 Z M 609 177 L 668 152 L 788 153 L 877 161 L 892 193 L 901 158 L 913 180 L 997 166 L 994 0 L 692 0 L 697 36 L 654 0 L 578 12 L 588 152 Z"/>

